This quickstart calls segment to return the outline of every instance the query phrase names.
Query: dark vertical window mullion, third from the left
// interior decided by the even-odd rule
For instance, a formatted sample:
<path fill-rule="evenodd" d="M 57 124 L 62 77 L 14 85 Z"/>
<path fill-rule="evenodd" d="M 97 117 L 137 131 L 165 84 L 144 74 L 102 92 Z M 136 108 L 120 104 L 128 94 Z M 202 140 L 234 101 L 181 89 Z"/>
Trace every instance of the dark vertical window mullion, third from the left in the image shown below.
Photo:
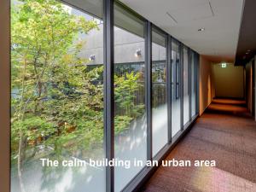
<path fill-rule="evenodd" d="M 167 39 L 167 113 L 168 143 L 172 143 L 172 37 Z"/>

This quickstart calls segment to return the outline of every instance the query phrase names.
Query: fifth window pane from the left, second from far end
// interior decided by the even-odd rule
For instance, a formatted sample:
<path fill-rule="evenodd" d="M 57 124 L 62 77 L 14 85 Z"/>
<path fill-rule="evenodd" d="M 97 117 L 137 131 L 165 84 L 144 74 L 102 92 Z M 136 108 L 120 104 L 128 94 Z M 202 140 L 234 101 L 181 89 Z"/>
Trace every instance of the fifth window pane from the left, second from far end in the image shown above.
<path fill-rule="evenodd" d="M 183 47 L 183 125 L 189 122 L 189 50 Z"/>

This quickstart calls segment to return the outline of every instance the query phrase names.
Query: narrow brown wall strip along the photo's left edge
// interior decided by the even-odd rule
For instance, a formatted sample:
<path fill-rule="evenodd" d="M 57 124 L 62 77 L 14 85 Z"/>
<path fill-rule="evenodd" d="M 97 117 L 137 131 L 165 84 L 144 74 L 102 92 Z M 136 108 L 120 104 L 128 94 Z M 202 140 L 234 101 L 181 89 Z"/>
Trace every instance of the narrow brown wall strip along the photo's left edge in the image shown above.
<path fill-rule="evenodd" d="M 0 5 L 0 191 L 9 191 L 9 0 Z"/>

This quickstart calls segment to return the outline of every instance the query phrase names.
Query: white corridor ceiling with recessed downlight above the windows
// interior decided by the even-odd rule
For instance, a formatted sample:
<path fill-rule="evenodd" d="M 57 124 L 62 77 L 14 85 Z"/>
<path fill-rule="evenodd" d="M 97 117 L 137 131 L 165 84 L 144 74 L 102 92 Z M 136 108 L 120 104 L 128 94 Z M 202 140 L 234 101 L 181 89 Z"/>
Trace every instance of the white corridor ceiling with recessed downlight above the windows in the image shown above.
<path fill-rule="evenodd" d="M 243 0 L 121 0 L 212 61 L 234 61 Z M 198 32 L 199 28 L 204 32 Z"/>

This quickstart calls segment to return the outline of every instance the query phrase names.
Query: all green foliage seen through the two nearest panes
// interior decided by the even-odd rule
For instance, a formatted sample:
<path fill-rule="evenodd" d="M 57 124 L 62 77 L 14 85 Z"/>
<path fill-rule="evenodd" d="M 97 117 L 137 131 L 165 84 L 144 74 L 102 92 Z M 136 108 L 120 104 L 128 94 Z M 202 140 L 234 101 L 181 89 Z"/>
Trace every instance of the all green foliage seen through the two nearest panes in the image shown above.
<path fill-rule="evenodd" d="M 79 34 L 97 30 L 96 23 L 69 14 L 55 0 L 22 2 L 11 10 L 12 160 L 38 158 L 38 145 L 54 148 L 60 158 L 101 154 L 103 85 L 96 80 L 103 67 L 88 70 L 79 56 L 85 43 Z M 116 135 L 142 113 L 135 102 L 138 78 L 134 72 L 115 77 L 115 100 L 125 109 L 115 116 Z"/>

